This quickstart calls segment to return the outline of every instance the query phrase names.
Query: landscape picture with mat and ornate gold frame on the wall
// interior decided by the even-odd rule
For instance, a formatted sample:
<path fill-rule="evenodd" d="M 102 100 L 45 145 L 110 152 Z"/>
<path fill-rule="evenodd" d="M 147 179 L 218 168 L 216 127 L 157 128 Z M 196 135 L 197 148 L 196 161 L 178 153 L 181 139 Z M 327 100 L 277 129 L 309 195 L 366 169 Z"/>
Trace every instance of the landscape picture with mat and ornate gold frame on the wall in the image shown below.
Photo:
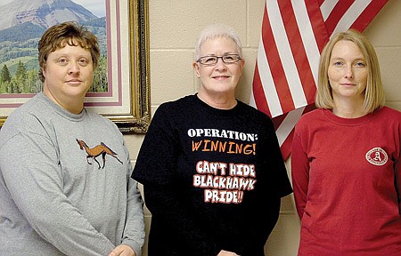
<path fill-rule="evenodd" d="M 145 133 L 151 122 L 148 1 L 149 0 L 72 0 L 72 2 L 74 2 L 73 4 L 79 5 L 74 6 L 74 10 L 81 7 L 84 8 L 80 11 L 79 17 L 82 17 L 82 13 L 86 12 L 93 15 L 90 16 L 88 14 L 90 17 L 83 22 L 83 25 L 86 26 L 87 24 L 87 28 L 90 30 L 91 28 L 94 29 L 93 32 L 99 38 L 104 57 L 103 67 L 98 68 L 101 69 L 101 71 L 96 70 L 98 73 L 95 72 L 94 74 L 94 88 L 86 93 L 85 106 L 89 111 L 94 111 L 102 116 L 108 117 L 119 126 L 120 131 L 123 133 Z M 2 2 L 9 3 L 2 4 Z M 12 0 L 0 0 L 0 6 L 3 8 L 1 9 L 3 11 L 0 11 L 2 17 L 13 15 L 14 12 L 11 11 L 12 2 Z M 66 1 L 66 3 L 68 2 L 70 1 Z M 80 3 L 83 4 L 81 5 Z M 90 8 L 89 3 L 97 6 L 104 6 L 104 15 L 94 15 L 93 12 L 88 11 L 86 8 Z M 28 7 L 32 8 L 30 5 L 27 6 L 27 8 Z M 23 8 L 24 6 L 19 6 L 19 10 L 28 11 L 23 10 Z M 37 8 L 39 9 L 40 6 L 37 6 Z M 60 10 L 58 10 L 58 12 L 60 12 Z M 65 15 L 63 17 L 65 17 Z M 32 17 L 29 19 L 33 20 Z M 66 20 L 58 21 L 62 22 Z M 35 29 L 39 27 L 35 27 L 31 24 L 29 25 L 29 22 L 21 22 L 20 25 L 11 28 L 7 28 L 6 26 L 7 22 L 3 22 L 3 24 L 0 22 L 0 37 L 4 38 L 0 40 L 0 48 L 7 49 L 8 45 L 14 45 L 14 47 L 10 48 L 13 51 L 12 54 L 7 55 L 0 51 L 0 128 L 4 124 L 7 116 L 9 116 L 15 108 L 18 108 L 21 104 L 33 97 L 37 92 L 40 92 L 42 86 L 41 83 L 37 81 L 30 81 L 27 83 L 27 80 L 24 80 L 24 83 L 20 83 L 18 79 L 21 78 L 12 77 L 19 74 L 18 68 L 20 68 L 20 66 L 22 66 L 23 70 L 29 69 L 31 66 L 38 68 L 37 62 L 35 62 L 36 65 L 30 64 L 30 66 L 29 63 L 33 60 L 37 61 L 37 52 L 35 52 L 37 49 L 34 49 L 34 47 L 37 47 L 37 41 L 40 37 L 36 34 L 36 37 L 31 36 L 35 38 L 20 38 L 29 34 L 25 33 L 15 38 L 16 33 L 12 31 L 23 31 L 24 28 L 29 29 L 29 31 L 35 31 Z M 8 25 L 8 27 L 10 26 L 11 25 Z M 27 26 L 32 27 L 26 28 Z M 45 28 L 42 29 L 43 31 L 39 30 L 38 33 L 40 32 L 43 34 Z M 10 35 L 14 35 L 14 37 Z M 10 36 L 10 39 L 6 39 L 7 36 Z M 36 44 L 30 46 L 26 43 L 35 40 Z M 20 48 L 15 47 L 15 45 L 20 45 Z M 26 50 L 29 49 L 29 47 L 31 49 L 29 53 L 23 52 L 22 50 L 15 50 Z M 7 56 L 20 57 L 10 60 L 10 58 L 6 58 Z M 29 62 L 29 60 L 32 61 Z M 13 72 L 9 72 L 7 65 L 9 65 L 9 67 L 14 67 Z M 8 76 L 4 76 L 4 67 L 6 68 L 5 71 L 12 74 L 9 75 L 11 77 L 9 82 L 5 81 Z M 29 74 L 38 73 L 38 69 L 35 70 L 35 68 L 33 68 L 34 70 L 32 71 L 28 71 L 31 72 L 28 73 L 28 77 Z M 12 68 L 10 69 L 12 70 Z M 29 88 L 25 88 L 27 86 L 22 88 L 20 84 L 31 85 Z"/>

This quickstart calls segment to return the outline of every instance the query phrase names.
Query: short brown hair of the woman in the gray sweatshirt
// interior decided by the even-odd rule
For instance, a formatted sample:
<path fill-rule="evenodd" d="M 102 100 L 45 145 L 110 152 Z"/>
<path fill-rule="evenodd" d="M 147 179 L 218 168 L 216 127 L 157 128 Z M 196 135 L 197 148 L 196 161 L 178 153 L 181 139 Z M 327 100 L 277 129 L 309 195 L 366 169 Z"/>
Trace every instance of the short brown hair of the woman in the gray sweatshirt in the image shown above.
<path fill-rule="evenodd" d="M 48 28 L 38 43 L 39 66 L 41 69 L 46 67 L 47 57 L 51 52 L 63 48 L 66 44 L 80 45 L 89 50 L 92 55 L 94 68 L 97 68 L 100 58 L 100 48 L 97 37 L 94 33 L 81 26 L 76 21 L 67 21 Z M 45 81 L 42 70 L 39 72 L 42 82 Z"/>

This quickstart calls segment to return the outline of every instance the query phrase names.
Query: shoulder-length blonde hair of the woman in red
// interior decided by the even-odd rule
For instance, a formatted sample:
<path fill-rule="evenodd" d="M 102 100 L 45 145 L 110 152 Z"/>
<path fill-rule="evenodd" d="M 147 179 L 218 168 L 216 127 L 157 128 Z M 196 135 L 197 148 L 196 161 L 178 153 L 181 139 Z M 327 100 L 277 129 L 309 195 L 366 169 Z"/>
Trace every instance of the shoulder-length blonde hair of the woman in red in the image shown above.
<path fill-rule="evenodd" d="M 348 29 L 332 36 L 331 40 L 324 46 L 320 57 L 319 73 L 317 82 L 317 93 L 315 105 L 317 108 L 333 108 L 331 86 L 329 82 L 328 69 L 330 65 L 331 52 L 334 45 L 340 40 L 354 42 L 364 55 L 368 71 L 366 89 L 364 91 L 364 111 L 372 113 L 377 108 L 382 108 L 385 103 L 384 88 L 381 82 L 381 70 L 376 52 L 369 40 L 356 29 Z"/>

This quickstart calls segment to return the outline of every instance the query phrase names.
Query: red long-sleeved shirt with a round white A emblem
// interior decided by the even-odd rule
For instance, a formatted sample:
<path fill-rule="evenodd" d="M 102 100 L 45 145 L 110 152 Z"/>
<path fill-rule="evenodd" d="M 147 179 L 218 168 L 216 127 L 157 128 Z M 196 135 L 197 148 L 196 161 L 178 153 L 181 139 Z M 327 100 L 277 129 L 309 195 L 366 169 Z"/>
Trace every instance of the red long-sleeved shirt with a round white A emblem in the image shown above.
<path fill-rule="evenodd" d="M 315 109 L 299 120 L 291 172 L 299 256 L 401 255 L 401 112 Z"/>

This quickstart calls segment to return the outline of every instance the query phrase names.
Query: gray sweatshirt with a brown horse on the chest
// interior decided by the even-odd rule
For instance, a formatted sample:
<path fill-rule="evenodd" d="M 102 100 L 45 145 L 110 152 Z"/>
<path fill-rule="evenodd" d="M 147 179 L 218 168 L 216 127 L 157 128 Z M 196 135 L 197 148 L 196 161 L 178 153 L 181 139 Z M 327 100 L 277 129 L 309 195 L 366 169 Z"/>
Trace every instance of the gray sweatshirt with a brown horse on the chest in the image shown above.
<path fill-rule="evenodd" d="M 0 255 L 141 255 L 143 199 L 109 119 L 38 93 L 0 130 Z"/>

